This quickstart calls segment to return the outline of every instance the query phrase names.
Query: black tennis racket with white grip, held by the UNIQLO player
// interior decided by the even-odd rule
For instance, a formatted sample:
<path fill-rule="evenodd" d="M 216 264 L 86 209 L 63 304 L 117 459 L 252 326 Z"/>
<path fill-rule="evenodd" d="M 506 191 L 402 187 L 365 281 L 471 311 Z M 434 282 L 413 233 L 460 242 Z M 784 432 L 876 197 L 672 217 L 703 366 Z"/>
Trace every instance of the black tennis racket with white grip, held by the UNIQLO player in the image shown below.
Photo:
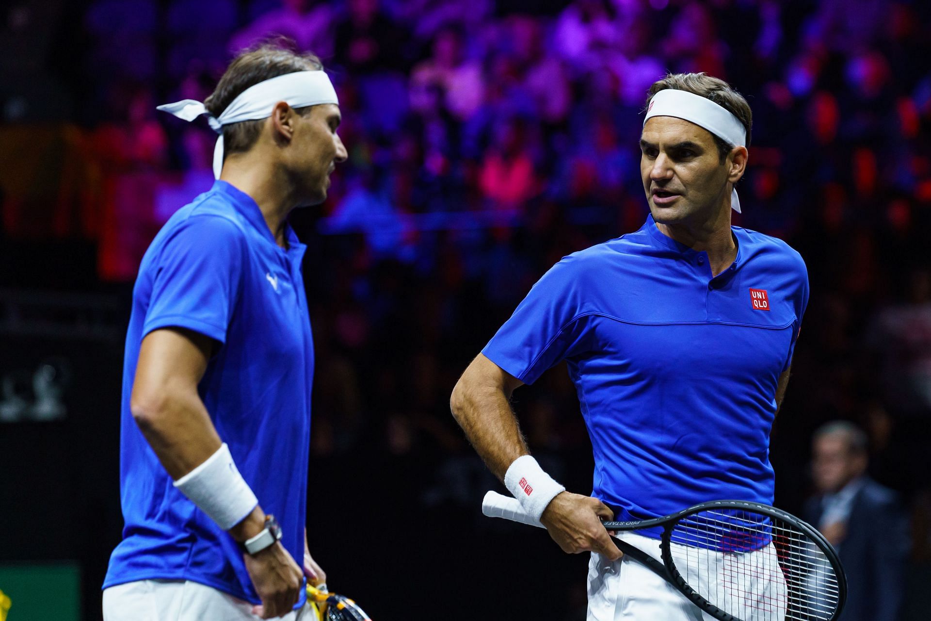
<path fill-rule="evenodd" d="M 486 493 L 481 510 L 543 526 L 500 493 Z M 773 506 L 717 500 L 665 518 L 603 523 L 608 531 L 658 536 L 659 560 L 616 536 L 614 544 L 721 621 L 834 621 L 847 599 L 834 548 L 810 525 Z"/>

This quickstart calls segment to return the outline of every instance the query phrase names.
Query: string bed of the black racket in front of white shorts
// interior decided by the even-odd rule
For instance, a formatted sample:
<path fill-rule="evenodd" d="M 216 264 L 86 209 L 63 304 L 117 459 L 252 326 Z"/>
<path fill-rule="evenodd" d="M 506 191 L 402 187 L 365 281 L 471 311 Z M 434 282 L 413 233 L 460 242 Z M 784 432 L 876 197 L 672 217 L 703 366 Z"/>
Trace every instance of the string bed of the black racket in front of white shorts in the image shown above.
<path fill-rule="evenodd" d="M 741 621 L 827 621 L 841 593 L 830 560 L 798 527 L 743 509 L 705 510 L 670 536 L 676 570 Z"/>

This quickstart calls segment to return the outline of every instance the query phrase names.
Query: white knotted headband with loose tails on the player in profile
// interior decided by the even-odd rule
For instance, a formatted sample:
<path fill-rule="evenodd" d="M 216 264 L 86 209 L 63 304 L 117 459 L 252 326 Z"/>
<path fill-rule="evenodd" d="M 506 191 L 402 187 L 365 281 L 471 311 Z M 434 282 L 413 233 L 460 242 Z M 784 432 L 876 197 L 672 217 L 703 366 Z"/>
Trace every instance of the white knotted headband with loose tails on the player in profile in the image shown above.
<path fill-rule="evenodd" d="M 247 88 L 218 117 L 211 115 L 204 104 L 196 100 L 166 103 L 157 109 L 185 121 L 207 115 L 210 127 L 220 134 L 213 149 L 213 176 L 220 179 L 220 171 L 223 169 L 223 126 L 268 118 L 278 101 L 284 101 L 292 108 L 305 108 L 320 103 L 340 104 L 327 74 L 322 71 L 298 71 L 278 75 Z"/>

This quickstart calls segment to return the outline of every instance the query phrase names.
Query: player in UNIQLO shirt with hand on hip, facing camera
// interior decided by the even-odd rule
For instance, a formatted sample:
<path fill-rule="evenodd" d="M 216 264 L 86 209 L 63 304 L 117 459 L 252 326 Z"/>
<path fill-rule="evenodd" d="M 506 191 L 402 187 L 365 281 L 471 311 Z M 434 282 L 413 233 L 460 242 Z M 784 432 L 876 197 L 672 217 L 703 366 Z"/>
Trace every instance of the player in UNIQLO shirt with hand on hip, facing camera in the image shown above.
<path fill-rule="evenodd" d="M 646 223 L 546 272 L 452 393 L 456 420 L 525 510 L 564 551 L 593 552 L 591 621 L 702 618 L 621 558 L 600 520 L 718 499 L 773 504 L 769 434 L 808 277 L 785 242 L 731 225 L 750 128 L 747 101 L 720 79 L 654 83 L 640 142 Z M 508 403 L 561 360 L 594 450 L 592 496 L 566 492 L 536 463 Z M 658 554 L 648 537 L 624 536 Z"/>

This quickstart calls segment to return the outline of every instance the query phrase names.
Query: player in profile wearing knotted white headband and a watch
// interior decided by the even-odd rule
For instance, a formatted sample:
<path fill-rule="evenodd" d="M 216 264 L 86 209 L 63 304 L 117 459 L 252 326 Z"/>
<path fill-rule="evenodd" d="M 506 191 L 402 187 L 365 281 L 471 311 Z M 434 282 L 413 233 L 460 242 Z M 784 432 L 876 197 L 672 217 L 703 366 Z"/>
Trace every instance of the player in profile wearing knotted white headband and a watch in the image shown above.
<path fill-rule="evenodd" d="M 204 103 L 159 110 L 207 116 L 217 181 L 155 236 L 133 290 L 103 617 L 310 619 L 314 352 L 288 215 L 322 202 L 346 157 L 339 101 L 317 57 L 264 46 Z"/>

